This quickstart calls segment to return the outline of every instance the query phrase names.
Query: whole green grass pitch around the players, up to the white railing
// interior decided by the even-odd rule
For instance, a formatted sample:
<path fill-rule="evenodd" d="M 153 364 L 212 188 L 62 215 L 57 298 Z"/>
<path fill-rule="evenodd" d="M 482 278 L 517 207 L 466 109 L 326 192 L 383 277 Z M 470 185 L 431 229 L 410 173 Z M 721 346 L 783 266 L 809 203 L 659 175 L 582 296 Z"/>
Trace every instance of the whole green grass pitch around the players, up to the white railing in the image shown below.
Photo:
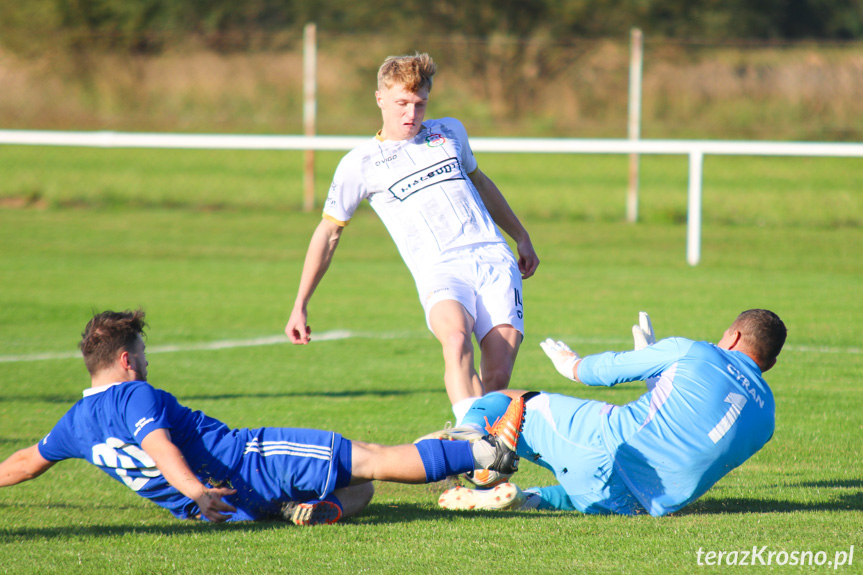
<path fill-rule="evenodd" d="M 74 353 L 94 310 L 145 306 L 152 350 L 281 333 L 319 219 L 295 210 L 297 155 L 0 152 L 0 197 L 39 196 L 26 209 L 0 209 L 0 457 L 38 441 L 88 384 L 77 358 L 8 360 Z M 319 162 L 322 190 L 336 160 Z M 684 158 L 643 160 L 644 221 L 635 226 L 620 221 L 622 158 L 480 162 L 542 259 L 525 284 L 513 387 L 626 402 L 639 385 L 576 387 L 538 342 L 624 349 L 641 309 L 659 336 L 715 341 L 742 309 L 769 307 L 789 327 L 767 378 L 773 440 L 700 501 L 659 519 L 449 513 L 435 503 L 441 486 L 379 484 L 368 510 L 341 525 L 202 525 L 172 519 L 83 462 L 63 462 L 0 490 L 0 572 L 729 572 L 698 566 L 699 548 L 765 545 L 831 560 L 855 545 L 854 564 L 838 571 L 863 572 L 860 162 L 708 158 L 697 267 L 685 263 Z M 411 441 L 451 419 L 439 346 L 416 297 L 365 209 L 310 307 L 315 333 L 358 337 L 151 353 L 150 380 L 236 427 Z M 516 479 L 553 480 L 528 464 Z"/>

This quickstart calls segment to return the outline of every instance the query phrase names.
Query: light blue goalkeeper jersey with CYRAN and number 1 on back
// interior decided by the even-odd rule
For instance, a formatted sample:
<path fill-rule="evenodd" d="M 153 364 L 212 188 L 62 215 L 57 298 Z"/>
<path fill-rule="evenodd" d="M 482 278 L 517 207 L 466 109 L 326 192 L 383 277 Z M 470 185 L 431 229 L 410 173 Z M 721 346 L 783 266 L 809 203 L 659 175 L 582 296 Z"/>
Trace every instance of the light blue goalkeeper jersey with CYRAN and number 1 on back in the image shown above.
<path fill-rule="evenodd" d="M 585 357 L 578 378 L 612 386 L 659 377 L 627 405 L 606 404 L 599 425 L 614 468 L 651 515 L 703 495 L 773 436 L 773 393 L 747 355 L 668 338 L 639 351 Z"/>

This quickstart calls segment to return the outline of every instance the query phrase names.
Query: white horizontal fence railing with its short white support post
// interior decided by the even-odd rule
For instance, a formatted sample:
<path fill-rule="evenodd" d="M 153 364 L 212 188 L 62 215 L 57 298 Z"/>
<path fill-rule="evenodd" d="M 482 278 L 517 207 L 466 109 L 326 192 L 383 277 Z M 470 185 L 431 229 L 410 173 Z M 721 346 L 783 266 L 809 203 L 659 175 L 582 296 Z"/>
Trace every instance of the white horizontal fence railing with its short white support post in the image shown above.
<path fill-rule="evenodd" d="M 0 130 L 0 144 L 97 148 L 212 150 L 349 150 L 366 136 L 254 136 Z M 686 261 L 701 260 L 701 187 L 705 155 L 863 158 L 863 143 L 744 142 L 711 140 L 588 140 L 471 138 L 476 152 L 550 154 L 666 154 L 689 156 Z M 861 174 L 863 177 L 863 174 Z"/>

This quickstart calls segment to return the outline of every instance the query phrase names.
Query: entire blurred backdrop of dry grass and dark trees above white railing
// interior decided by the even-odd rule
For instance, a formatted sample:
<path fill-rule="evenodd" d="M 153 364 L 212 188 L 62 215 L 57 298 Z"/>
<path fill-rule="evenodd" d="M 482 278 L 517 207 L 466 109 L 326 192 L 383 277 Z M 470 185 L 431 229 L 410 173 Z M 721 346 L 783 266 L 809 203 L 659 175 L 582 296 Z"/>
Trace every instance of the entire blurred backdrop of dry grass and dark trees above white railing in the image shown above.
<path fill-rule="evenodd" d="M 320 133 L 420 50 L 472 133 L 620 136 L 638 27 L 646 137 L 863 138 L 863 0 L 0 0 L 0 125 L 297 133 L 309 22 Z"/>

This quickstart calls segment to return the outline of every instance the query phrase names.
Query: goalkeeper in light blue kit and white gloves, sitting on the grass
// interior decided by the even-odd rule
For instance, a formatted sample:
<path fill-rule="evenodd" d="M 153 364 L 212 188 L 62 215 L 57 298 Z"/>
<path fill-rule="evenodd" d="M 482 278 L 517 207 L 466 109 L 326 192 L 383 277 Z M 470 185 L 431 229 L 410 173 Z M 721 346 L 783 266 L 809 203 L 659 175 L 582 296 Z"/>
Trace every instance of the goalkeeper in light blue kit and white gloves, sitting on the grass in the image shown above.
<path fill-rule="evenodd" d="M 521 457 L 551 470 L 559 485 L 522 492 L 457 487 L 440 498 L 450 509 L 578 510 L 661 516 L 692 503 L 773 435 L 773 394 L 762 374 L 785 343 L 782 320 L 767 310 L 741 313 L 719 343 L 673 337 L 655 342 L 647 314 L 635 326 L 634 351 L 579 357 L 563 342 L 541 345 L 558 371 L 581 383 L 645 381 L 626 405 L 556 394 L 504 392 L 524 404 Z M 464 424 L 521 409 L 491 394 Z M 526 401 L 523 401 L 526 400 Z M 469 428 L 438 437 L 466 437 Z"/>

